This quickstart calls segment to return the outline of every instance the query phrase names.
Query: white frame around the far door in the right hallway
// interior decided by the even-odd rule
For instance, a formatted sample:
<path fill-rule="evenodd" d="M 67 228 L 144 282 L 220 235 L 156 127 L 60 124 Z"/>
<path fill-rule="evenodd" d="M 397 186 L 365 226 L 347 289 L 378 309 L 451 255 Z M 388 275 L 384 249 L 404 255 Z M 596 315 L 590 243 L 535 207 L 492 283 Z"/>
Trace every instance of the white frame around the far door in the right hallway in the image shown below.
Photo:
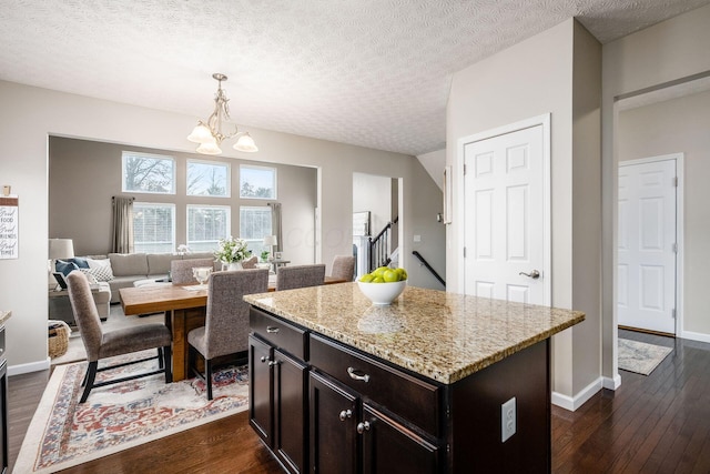
<path fill-rule="evenodd" d="M 683 160 L 686 159 L 686 154 L 682 152 L 678 153 L 669 153 L 669 154 L 659 154 L 657 157 L 648 157 L 648 158 L 639 158 L 637 160 L 625 160 L 619 161 L 617 165 L 617 202 L 616 206 L 619 206 L 619 169 L 621 167 L 630 167 L 635 164 L 646 164 L 653 163 L 657 161 L 674 161 L 676 162 L 676 178 L 678 179 L 678 185 L 676 186 L 676 243 L 678 245 L 678 251 L 676 252 L 676 329 L 674 335 L 676 337 L 683 336 L 683 248 L 684 245 L 684 235 L 683 235 L 683 194 L 684 194 L 684 171 L 683 171 Z M 619 262 L 619 213 L 616 212 L 616 222 L 613 223 L 617 229 L 617 239 L 616 244 L 613 246 L 613 261 Z M 618 276 L 618 268 L 613 269 L 613 313 L 615 321 L 617 325 L 617 333 L 619 331 L 619 316 L 618 316 L 618 301 L 619 301 L 619 276 Z"/>

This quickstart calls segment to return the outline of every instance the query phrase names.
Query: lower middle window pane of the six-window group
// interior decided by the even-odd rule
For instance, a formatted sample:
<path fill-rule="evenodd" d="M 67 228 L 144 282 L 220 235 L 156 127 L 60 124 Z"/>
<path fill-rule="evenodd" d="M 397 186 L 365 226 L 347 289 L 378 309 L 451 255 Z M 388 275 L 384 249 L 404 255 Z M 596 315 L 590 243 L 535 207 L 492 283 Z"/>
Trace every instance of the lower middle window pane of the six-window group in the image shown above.
<path fill-rule="evenodd" d="M 214 251 L 230 236 L 229 205 L 187 205 L 187 246 L 193 252 Z"/>

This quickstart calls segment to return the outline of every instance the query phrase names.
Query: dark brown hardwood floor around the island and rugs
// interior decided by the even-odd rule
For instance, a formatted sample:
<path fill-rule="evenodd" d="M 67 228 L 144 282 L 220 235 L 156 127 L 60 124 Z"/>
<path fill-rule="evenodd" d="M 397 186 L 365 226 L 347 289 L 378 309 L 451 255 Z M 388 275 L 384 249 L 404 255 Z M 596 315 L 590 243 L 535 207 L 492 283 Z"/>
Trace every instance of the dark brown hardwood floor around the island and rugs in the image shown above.
<path fill-rule="evenodd" d="M 554 473 L 710 473 L 710 344 L 620 331 L 674 351 L 649 375 L 621 371 L 576 412 L 552 407 Z M 9 380 L 10 467 L 49 373 Z M 62 473 L 278 473 L 247 413 Z"/>

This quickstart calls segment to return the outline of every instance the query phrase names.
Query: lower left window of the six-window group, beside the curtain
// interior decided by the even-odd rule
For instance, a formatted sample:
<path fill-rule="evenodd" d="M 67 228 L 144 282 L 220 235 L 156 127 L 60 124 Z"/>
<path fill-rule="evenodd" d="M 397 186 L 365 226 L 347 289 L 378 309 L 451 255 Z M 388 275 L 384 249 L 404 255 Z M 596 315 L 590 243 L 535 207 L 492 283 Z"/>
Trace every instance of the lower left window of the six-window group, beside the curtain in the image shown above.
<path fill-rule="evenodd" d="M 175 250 L 175 205 L 133 203 L 135 253 L 171 253 Z"/>

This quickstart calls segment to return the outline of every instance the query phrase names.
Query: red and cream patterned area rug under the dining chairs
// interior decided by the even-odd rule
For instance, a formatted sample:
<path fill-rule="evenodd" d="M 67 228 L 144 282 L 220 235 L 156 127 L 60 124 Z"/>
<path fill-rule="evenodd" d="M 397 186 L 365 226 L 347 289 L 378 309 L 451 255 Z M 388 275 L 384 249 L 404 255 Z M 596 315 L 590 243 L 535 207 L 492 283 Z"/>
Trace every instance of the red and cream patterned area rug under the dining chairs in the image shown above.
<path fill-rule="evenodd" d="M 119 359 L 110 362 L 121 362 Z M 155 369 L 156 364 L 150 361 L 119 371 L 120 375 L 128 375 Z M 85 370 L 85 362 L 54 369 L 13 472 L 57 472 L 233 415 L 248 406 L 246 365 L 215 373 L 212 401 L 207 401 L 201 380 L 165 384 L 164 375 L 159 374 L 93 389 L 87 403 L 80 404 Z M 106 371 L 99 373 L 97 380 L 110 372 L 118 375 L 115 371 Z"/>

